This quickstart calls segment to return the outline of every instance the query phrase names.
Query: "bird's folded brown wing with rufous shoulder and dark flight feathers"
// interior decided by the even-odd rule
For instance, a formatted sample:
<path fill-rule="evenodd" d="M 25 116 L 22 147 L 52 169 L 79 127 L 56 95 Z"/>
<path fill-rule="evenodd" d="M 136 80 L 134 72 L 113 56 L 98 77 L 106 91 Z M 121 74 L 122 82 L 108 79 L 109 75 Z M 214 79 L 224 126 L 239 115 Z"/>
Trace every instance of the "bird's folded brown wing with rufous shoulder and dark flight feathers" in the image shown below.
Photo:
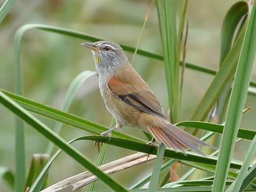
<path fill-rule="evenodd" d="M 161 104 L 141 77 L 135 82 L 134 78 L 126 81 L 124 77 L 112 77 L 108 81 L 108 89 L 115 97 L 144 113 L 166 118 Z"/>

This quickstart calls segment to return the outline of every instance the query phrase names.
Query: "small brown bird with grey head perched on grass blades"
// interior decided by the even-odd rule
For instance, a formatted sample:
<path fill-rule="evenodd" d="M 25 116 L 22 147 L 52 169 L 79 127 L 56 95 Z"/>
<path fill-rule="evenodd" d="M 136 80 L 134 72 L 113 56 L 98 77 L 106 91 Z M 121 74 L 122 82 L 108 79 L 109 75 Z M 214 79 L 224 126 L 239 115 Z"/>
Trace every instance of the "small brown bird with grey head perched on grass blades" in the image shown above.
<path fill-rule="evenodd" d="M 209 146 L 167 120 L 163 107 L 121 46 L 108 41 L 82 45 L 92 50 L 101 96 L 116 120 L 116 126 L 101 135 L 128 124 L 150 132 L 159 143 L 184 154 L 187 149 L 202 154 L 199 147 Z"/>

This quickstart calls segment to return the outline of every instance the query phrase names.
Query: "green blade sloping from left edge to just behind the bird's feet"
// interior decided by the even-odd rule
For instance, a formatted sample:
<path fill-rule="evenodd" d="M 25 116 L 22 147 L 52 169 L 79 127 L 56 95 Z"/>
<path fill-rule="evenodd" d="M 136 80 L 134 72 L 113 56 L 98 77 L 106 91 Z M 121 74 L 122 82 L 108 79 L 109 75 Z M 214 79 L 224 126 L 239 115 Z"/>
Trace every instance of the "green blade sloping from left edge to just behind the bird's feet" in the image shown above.
<path fill-rule="evenodd" d="M 106 130 L 108 130 L 107 127 L 103 125 L 99 125 L 96 123 L 93 123 L 91 121 L 87 121 L 86 119 L 83 119 L 81 117 L 65 113 L 63 111 L 60 111 L 58 109 L 55 109 L 53 107 L 43 105 L 41 103 L 37 103 L 35 101 L 29 100 L 25 97 L 21 97 L 19 95 L 13 94 L 11 92 L 3 91 L 8 97 L 12 98 L 14 101 L 19 102 L 19 104 L 24 107 L 25 109 L 36 113 L 38 115 L 45 116 L 47 118 L 54 119 L 55 121 L 59 121 L 62 123 L 65 123 L 70 126 L 77 127 L 79 129 L 91 132 L 93 134 L 100 134 Z M 140 142 L 146 142 L 142 139 L 138 139 L 117 131 L 112 132 L 113 136 L 123 138 L 123 139 L 129 139 L 134 141 L 140 141 Z"/>

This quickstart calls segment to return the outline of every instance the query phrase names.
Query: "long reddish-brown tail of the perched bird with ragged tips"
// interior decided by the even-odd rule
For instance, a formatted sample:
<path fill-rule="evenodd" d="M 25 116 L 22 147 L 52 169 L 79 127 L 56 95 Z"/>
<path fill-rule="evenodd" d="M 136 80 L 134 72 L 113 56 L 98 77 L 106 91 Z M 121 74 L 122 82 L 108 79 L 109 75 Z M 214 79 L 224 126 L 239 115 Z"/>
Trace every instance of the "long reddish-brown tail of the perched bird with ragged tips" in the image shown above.
<path fill-rule="evenodd" d="M 187 149 L 191 149 L 199 154 L 202 151 L 199 150 L 201 146 L 209 146 L 204 141 L 201 141 L 193 135 L 179 129 L 179 127 L 166 122 L 164 127 L 148 127 L 148 130 L 158 142 L 163 142 L 167 148 L 174 149 L 186 154 Z M 205 155 L 204 155 L 205 156 Z"/>

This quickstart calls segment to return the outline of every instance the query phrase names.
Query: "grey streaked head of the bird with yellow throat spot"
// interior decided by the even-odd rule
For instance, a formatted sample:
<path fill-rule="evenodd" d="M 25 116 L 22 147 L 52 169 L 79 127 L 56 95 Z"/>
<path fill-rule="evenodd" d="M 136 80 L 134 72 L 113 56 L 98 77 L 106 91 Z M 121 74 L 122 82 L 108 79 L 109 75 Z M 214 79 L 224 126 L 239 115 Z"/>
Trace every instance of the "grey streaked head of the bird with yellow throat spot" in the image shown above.
<path fill-rule="evenodd" d="M 82 45 L 92 50 L 98 73 L 113 71 L 129 63 L 122 47 L 117 43 L 98 41 L 95 43 L 82 43 Z"/>

